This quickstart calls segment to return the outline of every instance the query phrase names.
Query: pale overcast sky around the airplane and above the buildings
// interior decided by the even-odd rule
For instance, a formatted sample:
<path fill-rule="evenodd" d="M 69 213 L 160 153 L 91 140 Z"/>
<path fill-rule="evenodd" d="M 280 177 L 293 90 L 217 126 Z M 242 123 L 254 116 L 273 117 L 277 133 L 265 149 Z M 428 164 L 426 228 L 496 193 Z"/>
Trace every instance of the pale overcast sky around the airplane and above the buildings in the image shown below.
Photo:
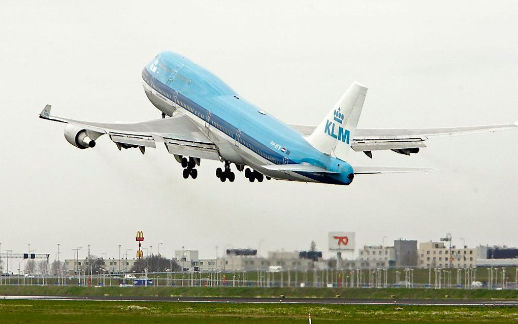
<path fill-rule="evenodd" d="M 518 132 L 429 140 L 418 155 L 363 153 L 363 165 L 432 174 L 358 176 L 349 187 L 233 184 L 202 161 L 196 180 L 163 147 L 119 152 L 108 137 L 79 150 L 53 114 L 156 119 L 140 73 L 158 52 L 185 55 L 285 122 L 317 124 L 357 80 L 369 91 L 360 127 L 434 127 L 518 120 L 515 1 L 218 1 L 0 3 L 2 251 L 91 244 L 118 257 L 163 242 L 200 257 L 215 246 L 327 253 L 328 231 L 357 247 L 403 237 L 518 245 Z M 83 249 L 84 250 L 84 249 Z M 83 257 L 84 254 L 81 254 Z"/>

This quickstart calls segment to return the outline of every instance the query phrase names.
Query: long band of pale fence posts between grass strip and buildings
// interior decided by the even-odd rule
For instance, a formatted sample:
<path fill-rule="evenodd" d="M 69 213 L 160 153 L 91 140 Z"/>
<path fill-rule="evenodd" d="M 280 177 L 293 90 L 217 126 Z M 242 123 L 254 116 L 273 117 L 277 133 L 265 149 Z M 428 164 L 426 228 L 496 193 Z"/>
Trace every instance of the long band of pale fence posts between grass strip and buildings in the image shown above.
<path fill-rule="evenodd" d="M 513 273 L 514 272 L 514 273 Z M 201 271 L 76 276 L 10 275 L 0 285 L 164 286 L 164 287 L 336 287 L 516 289 L 518 267 L 467 269 L 349 269 L 306 271 Z M 125 278 L 125 276 L 127 278 Z M 510 278 L 512 276 L 514 278 Z M 142 280 L 148 278 L 152 281 Z M 140 279 L 140 280 L 139 280 Z M 415 280 L 417 279 L 417 280 Z M 512 280 L 514 279 L 514 280 Z M 136 281 L 135 281 L 136 280 Z"/>

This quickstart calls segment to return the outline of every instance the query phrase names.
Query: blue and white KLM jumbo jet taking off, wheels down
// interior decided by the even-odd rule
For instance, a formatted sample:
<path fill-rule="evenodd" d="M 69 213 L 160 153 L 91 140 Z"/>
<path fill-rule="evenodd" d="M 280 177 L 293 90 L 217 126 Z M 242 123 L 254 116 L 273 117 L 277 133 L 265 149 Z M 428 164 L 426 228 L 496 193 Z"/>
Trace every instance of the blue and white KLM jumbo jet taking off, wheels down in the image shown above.
<path fill-rule="evenodd" d="M 367 88 L 354 82 L 318 125 L 286 124 L 245 100 L 207 69 L 182 55 L 164 51 L 142 70 L 144 91 L 162 118 L 137 123 L 87 122 L 50 115 L 67 123 L 73 146 L 93 148 L 107 134 L 121 150 L 155 148 L 163 143 L 182 168 L 183 178 L 197 177 L 202 159 L 223 162 L 215 175 L 235 180 L 231 163 L 250 181 L 266 179 L 349 185 L 355 175 L 429 172 L 424 167 L 352 166 L 351 151 L 372 158 L 372 151 L 418 153 L 429 138 L 517 129 L 514 124 L 431 129 L 357 128 Z M 245 167 L 248 166 L 245 170 Z"/>

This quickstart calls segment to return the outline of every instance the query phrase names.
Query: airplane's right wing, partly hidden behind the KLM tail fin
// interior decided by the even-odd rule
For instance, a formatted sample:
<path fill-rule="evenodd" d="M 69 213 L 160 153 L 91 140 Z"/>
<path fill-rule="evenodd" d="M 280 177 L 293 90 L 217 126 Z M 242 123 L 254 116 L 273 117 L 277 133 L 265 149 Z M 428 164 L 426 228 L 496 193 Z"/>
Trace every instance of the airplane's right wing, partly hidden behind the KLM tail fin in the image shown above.
<path fill-rule="evenodd" d="M 310 135 L 316 126 L 290 125 L 303 135 Z M 397 153 L 417 153 L 419 148 L 426 147 L 425 141 L 429 138 L 496 132 L 518 129 L 518 122 L 514 124 L 464 126 L 450 128 L 420 128 L 420 129 L 362 129 L 355 130 L 351 147 L 357 152 L 394 150 Z"/>

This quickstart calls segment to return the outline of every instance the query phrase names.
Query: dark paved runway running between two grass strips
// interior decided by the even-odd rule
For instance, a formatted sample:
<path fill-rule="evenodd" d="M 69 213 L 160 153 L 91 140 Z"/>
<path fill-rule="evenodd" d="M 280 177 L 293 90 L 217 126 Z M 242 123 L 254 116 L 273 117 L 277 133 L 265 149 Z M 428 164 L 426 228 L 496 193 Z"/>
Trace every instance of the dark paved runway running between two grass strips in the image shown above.
<path fill-rule="evenodd" d="M 126 296 L 36 296 L 0 295 L 0 300 L 70 300 L 122 302 L 189 302 L 242 304 L 342 304 L 342 305 L 407 305 L 407 306 L 518 306 L 518 300 L 464 299 L 340 299 L 340 298 L 248 298 L 248 297 L 126 297 Z"/>

